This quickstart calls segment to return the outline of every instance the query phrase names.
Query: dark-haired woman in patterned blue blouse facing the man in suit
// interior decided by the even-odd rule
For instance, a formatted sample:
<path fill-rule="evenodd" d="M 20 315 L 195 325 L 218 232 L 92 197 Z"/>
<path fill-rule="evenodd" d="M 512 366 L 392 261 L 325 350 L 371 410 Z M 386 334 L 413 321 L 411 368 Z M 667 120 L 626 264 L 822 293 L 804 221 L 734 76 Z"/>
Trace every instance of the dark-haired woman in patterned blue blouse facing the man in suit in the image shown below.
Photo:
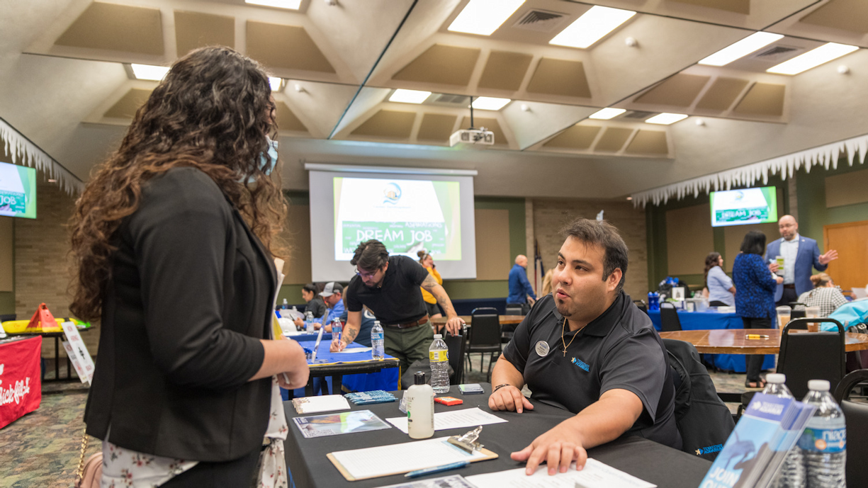
<path fill-rule="evenodd" d="M 741 252 L 733 260 L 735 282 L 735 313 L 741 316 L 746 329 L 770 329 L 775 318 L 774 290 L 784 279 L 769 271 L 762 255 L 766 252 L 766 234 L 752 230 L 741 241 Z M 747 356 L 748 388 L 762 388 L 759 378 L 763 357 Z"/>

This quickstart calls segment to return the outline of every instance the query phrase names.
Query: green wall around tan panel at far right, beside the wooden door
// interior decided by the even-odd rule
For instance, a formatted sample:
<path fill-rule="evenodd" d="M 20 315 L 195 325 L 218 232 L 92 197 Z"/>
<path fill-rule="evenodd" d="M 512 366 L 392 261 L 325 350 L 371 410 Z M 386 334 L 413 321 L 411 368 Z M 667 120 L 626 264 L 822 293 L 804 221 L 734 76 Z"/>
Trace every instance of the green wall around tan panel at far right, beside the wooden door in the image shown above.
<path fill-rule="evenodd" d="M 843 224 L 845 222 L 868 221 L 868 203 L 854 203 L 843 207 L 825 208 L 825 177 L 845 175 L 854 171 L 865 171 L 865 165 L 853 162 L 847 164 L 842 156 L 838 160 L 838 168 L 814 167 L 811 173 L 804 169 L 796 175 L 796 195 L 799 198 L 799 234 L 817 240 L 820 252 L 823 252 L 823 226 Z"/>

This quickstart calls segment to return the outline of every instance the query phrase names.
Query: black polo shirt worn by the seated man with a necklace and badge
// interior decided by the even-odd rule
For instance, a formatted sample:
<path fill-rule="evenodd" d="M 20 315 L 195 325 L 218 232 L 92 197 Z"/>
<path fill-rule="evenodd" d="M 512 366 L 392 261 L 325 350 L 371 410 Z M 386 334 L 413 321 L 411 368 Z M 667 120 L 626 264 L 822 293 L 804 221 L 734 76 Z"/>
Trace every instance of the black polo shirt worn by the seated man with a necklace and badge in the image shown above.
<path fill-rule="evenodd" d="M 530 398 L 578 413 L 603 392 L 628 390 L 641 399 L 644 409 L 624 435 L 681 448 L 666 348 L 648 315 L 621 293 L 582 330 L 569 332 L 568 324 L 563 340 L 562 324 L 555 299 L 547 295 L 503 348 L 503 357 L 523 374 Z M 569 344 L 566 355 L 564 343 Z"/>

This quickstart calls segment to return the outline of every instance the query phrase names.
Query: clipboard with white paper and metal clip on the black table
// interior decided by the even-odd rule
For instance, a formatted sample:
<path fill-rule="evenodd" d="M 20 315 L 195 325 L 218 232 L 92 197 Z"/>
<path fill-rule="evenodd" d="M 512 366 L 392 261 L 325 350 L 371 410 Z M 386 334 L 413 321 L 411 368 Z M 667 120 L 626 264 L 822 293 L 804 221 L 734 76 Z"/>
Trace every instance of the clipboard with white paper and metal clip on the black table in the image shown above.
<path fill-rule="evenodd" d="M 329 452 L 325 457 L 332 461 L 332 465 L 338 468 L 340 474 L 347 481 L 382 478 L 384 476 L 403 474 L 456 461 L 466 460 L 475 463 L 477 461 L 497 458 L 495 452 L 491 452 L 485 448 L 475 451 L 473 454 L 468 454 L 455 445 L 450 445 L 448 439 L 448 437 L 441 437 L 415 440 L 402 444 L 378 445 L 376 447 L 366 447 L 350 451 Z M 441 444 L 444 446 L 441 446 Z M 441 449 L 442 447 L 445 447 L 445 449 Z M 438 453 L 443 455 L 438 455 Z M 454 453 L 455 455 L 450 457 L 450 453 Z M 354 458 L 358 465 L 364 464 L 366 472 L 355 472 L 352 470 L 352 463 L 345 465 L 342 459 L 348 457 Z M 412 458 L 412 464 L 402 464 L 402 460 L 405 458 Z M 375 461 L 381 461 L 382 466 L 375 466 Z"/>

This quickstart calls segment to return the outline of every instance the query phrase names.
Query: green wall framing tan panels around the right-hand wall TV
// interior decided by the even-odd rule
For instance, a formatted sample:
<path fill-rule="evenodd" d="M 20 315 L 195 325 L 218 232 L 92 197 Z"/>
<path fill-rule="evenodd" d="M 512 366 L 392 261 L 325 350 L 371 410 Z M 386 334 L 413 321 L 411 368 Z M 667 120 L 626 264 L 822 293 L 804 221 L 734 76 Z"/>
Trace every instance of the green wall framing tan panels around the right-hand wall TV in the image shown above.
<path fill-rule="evenodd" d="M 817 175 L 818 171 L 815 171 L 813 175 Z M 802 176 L 799 175 L 799 178 L 796 180 L 799 183 L 802 179 Z M 820 181 L 820 185 L 823 185 L 823 181 Z M 789 213 L 789 191 L 788 191 L 788 183 L 786 181 L 781 180 L 779 177 L 770 177 L 767 184 L 763 184 L 758 182 L 753 187 L 777 187 L 778 188 L 778 214 L 783 215 Z M 733 189 L 738 188 L 747 188 L 747 187 L 733 187 Z M 799 214 L 801 214 L 801 195 L 802 191 L 799 188 L 797 190 L 797 195 L 799 195 Z M 825 197 L 824 197 L 825 198 Z M 695 205 L 702 205 L 708 202 L 708 195 L 700 193 L 698 197 L 687 196 L 681 200 L 670 200 L 665 205 L 654 206 L 653 204 L 648 204 L 645 208 L 645 225 L 646 232 L 648 233 L 648 289 L 656 290 L 661 280 L 664 280 L 668 275 L 668 256 L 667 256 L 667 235 L 666 235 L 666 213 L 669 210 L 675 210 L 678 208 L 687 208 L 693 207 Z M 865 204 L 868 207 L 868 204 Z M 825 201 L 824 201 L 825 207 Z M 710 218 L 710 217 L 709 217 Z M 710 221 L 701 222 L 701 225 L 710 226 Z M 801 224 L 799 224 L 800 226 Z M 820 235 L 823 234 L 822 226 L 820 227 Z M 709 249 L 708 252 L 716 251 L 720 254 L 725 253 L 725 237 L 724 237 L 723 228 L 712 228 L 712 237 L 713 237 L 713 249 Z M 681 280 L 686 280 L 688 284 L 696 284 L 702 283 L 704 280 L 704 276 L 702 274 L 683 274 L 678 278 Z"/>

